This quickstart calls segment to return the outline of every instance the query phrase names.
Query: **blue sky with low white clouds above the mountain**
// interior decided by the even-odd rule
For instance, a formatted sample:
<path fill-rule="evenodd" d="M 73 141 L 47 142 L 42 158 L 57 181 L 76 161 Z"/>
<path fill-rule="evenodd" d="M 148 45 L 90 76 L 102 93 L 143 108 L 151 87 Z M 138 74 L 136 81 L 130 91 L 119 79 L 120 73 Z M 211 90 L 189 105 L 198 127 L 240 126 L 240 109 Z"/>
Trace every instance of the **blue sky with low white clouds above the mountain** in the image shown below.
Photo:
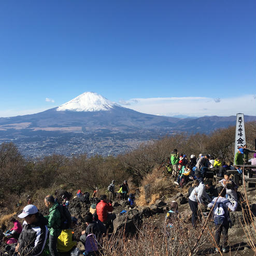
<path fill-rule="evenodd" d="M 1 1 L 0 117 L 86 91 L 157 115 L 256 115 L 255 24 L 254 0 Z"/>

